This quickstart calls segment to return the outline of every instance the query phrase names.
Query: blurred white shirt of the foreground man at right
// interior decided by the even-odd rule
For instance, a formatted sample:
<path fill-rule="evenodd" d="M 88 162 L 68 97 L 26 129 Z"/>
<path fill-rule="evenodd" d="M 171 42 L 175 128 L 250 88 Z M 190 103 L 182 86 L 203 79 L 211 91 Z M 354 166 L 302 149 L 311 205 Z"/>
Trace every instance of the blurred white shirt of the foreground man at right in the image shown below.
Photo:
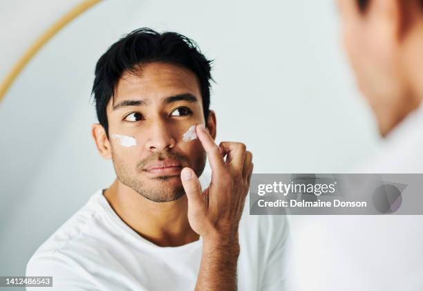
<path fill-rule="evenodd" d="M 423 104 L 353 172 L 423 173 Z M 423 216 L 303 216 L 292 227 L 301 291 L 423 290 Z"/>

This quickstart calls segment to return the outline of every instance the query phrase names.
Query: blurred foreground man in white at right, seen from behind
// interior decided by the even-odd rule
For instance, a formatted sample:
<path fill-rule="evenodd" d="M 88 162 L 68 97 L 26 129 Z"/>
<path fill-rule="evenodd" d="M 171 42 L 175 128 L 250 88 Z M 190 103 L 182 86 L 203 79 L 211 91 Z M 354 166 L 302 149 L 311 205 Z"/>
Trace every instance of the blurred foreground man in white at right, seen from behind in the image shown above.
<path fill-rule="evenodd" d="M 344 46 L 384 136 L 359 173 L 423 173 L 422 2 L 337 1 Z M 423 290 L 422 226 L 422 216 L 313 217 L 320 232 L 301 272 L 313 290 Z"/>

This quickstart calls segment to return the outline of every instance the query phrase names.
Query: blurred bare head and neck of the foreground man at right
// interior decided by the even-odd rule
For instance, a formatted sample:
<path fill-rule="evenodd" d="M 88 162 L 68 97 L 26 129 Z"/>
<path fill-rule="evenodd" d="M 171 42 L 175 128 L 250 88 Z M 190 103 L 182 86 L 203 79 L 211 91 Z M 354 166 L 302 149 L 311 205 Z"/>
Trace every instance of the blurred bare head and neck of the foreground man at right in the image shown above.
<path fill-rule="evenodd" d="M 338 0 L 357 83 L 385 135 L 423 94 L 423 0 Z"/>

